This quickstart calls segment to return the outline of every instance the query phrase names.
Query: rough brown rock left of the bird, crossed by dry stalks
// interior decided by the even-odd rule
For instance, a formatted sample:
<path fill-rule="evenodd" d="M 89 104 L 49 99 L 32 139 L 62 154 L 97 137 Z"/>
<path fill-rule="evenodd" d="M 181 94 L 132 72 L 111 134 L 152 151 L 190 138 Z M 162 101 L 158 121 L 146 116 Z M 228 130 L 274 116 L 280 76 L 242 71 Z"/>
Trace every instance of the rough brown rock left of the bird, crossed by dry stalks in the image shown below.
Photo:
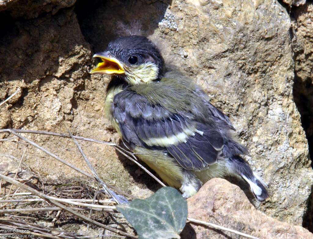
<path fill-rule="evenodd" d="M 74 8 L 35 19 L 19 19 L 8 22 L 7 26 L 0 38 L 0 102 L 18 88 L 21 90 L 1 106 L 1 128 L 63 133 L 69 129 L 76 135 L 118 141 L 103 114 L 108 78 L 90 79 L 90 45 L 81 34 Z M 0 134 L 1 138 L 5 136 L 8 135 Z M 44 135 L 23 136 L 88 171 L 72 140 Z M 136 183 L 138 168 L 118 156 L 111 146 L 86 142 L 81 145 L 107 183 L 136 196 L 146 192 L 141 197 L 151 195 L 151 189 L 157 186 L 151 182 L 151 189 L 147 189 L 140 178 Z M 1 172 L 15 168 L 15 164 L 7 162 L 13 157 L 18 161 L 22 153 L 23 147 L 17 150 L 14 143 L 0 142 L 0 162 L 6 162 L 1 164 Z M 34 147 L 28 147 L 23 162 L 55 183 L 81 177 L 80 173 Z"/>

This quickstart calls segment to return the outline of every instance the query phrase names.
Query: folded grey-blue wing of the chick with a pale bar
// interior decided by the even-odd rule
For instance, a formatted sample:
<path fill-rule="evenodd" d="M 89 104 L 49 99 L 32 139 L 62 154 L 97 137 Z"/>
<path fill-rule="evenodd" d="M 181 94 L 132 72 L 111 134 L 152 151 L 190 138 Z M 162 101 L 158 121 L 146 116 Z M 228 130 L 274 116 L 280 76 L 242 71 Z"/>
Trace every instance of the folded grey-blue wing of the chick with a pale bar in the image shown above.
<path fill-rule="evenodd" d="M 223 137 L 192 112 L 173 113 L 133 91 L 115 95 L 112 112 L 123 139 L 136 146 L 166 150 L 187 170 L 202 170 L 223 157 Z"/>

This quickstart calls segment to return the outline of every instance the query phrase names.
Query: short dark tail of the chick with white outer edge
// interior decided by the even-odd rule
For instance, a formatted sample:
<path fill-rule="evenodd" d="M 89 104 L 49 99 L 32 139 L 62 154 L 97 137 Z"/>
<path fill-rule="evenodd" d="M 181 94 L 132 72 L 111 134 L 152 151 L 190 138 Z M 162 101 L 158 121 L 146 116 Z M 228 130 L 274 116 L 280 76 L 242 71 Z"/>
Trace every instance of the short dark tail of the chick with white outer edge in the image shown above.
<path fill-rule="evenodd" d="M 230 157 L 229 162 L 231 173 L 241 176 L 247 183 L 249 183 L 251 191 L 259 201 L 264 201 L 269 197 L 266 183 L 264 183 L 262 178 L 252 171 L 248 162 L 240 156 Z"/>

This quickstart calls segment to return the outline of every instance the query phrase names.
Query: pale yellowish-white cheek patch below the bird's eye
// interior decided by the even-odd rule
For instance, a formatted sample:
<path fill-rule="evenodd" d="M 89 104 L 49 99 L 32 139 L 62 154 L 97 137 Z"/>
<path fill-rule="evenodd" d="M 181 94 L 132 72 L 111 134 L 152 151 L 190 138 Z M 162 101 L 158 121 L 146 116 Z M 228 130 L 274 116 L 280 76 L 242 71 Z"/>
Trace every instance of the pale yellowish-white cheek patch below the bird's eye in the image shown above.
<path fill-rule="evenodd" d="M 158 74 L 156 64 L 148 62 L 136 67 L 125 66 L 126 80 L 130 85 L 147 84 L 154 81 Z"/>

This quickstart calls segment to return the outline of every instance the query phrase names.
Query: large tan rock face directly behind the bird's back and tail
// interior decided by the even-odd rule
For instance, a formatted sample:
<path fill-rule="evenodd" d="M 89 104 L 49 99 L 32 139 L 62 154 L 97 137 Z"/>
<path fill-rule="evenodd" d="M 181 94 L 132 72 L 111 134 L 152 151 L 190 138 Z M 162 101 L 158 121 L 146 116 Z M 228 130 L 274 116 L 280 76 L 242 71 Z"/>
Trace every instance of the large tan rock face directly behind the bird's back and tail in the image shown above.
<path fill-rule="evenodd" d="M 269 185 L 270 199 L 256 207 L 301 225 L 313 171 L 293 101 L 291 21 L 285 8 L 273 1 L 173 1 L 165 15 L 171 23 L 159 24 L 154 35 L 168 42 L 174 64 L 231 118 L 239 141 L 250 150 L 247 160 Z"/>

